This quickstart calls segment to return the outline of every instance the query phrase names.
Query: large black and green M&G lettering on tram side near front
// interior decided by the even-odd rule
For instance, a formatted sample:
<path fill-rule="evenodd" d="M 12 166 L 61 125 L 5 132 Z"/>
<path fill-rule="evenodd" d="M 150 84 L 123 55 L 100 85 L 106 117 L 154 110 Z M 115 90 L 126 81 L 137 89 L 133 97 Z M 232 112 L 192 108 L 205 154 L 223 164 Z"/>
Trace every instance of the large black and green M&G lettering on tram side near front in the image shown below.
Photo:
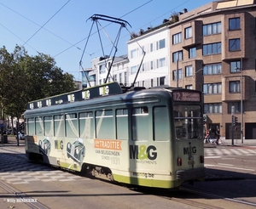
<path fill-rule="evenodd" d="M 157 157 L 156 148 L 153 145 L 130 145 L 130 159 L 154 161 Z"/>

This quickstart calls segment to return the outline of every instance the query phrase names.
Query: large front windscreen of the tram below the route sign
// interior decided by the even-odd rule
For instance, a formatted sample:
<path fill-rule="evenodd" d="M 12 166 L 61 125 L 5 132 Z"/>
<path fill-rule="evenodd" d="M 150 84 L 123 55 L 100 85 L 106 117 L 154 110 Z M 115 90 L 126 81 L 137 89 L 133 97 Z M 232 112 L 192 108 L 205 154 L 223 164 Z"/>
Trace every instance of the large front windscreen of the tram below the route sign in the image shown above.
<path fill-rule="evenodd" d="M 199 105 L 173 107 L 177 140 L 202 138 L 202 116 Z"/>

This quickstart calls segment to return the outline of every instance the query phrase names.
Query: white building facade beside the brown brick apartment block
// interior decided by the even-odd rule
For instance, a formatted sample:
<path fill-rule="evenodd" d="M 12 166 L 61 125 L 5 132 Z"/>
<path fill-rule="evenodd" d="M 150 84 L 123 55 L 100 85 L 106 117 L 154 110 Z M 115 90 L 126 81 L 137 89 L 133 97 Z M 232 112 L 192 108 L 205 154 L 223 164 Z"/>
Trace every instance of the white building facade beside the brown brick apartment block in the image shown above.
<path fill-rule="evenodd" d="M 127 42 L 130 85 L 136 76 L 135 86 L 151 88 L 170 85 L 169 31 L 167 25 L 160 25 L 160 28 L 155 27 L 145 32 L 141 31 L 138 36 Z M 143 63 L 139 70 L 142 59 Z"/>

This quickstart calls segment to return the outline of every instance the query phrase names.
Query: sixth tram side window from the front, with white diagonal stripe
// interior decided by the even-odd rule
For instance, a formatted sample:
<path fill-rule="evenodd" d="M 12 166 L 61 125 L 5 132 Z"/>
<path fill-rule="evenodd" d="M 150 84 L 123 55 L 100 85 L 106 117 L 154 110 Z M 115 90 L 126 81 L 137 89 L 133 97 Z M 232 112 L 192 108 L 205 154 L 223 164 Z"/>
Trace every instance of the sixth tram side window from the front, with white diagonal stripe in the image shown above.
<path fill-rule="evenodd" d="M 66 114 L 65 125 L 66 137 L 79 137 L 78 117 L 76 113 Z"/>

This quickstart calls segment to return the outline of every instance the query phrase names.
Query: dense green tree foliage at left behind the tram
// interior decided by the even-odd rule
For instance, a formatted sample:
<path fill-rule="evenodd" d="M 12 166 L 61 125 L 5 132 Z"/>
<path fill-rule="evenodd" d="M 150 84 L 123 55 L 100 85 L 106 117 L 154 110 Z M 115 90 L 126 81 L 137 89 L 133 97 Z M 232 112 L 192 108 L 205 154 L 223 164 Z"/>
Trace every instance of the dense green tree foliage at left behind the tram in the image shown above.
<path fill-rule="evenodd" d="M 20 118 L 29 101 L 71 92 L 75 85 L 73 75 L 63 73 L 49 55 L 29 56 L 16 46 L 11 54 L 0 48 L 0 89 L 1 110 Z"/>

